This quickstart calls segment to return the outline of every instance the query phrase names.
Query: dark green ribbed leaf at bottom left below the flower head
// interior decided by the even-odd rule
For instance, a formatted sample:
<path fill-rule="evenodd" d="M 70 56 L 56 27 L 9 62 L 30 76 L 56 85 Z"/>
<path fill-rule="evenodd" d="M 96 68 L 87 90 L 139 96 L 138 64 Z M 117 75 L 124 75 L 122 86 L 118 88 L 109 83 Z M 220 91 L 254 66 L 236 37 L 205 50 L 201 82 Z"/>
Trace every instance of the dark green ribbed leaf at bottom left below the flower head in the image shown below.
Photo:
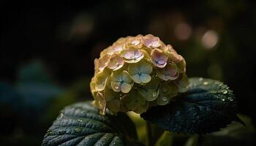
<path fill-rule="evenodd" d="M 91 102 L 72 104 L 53 122 L 42 145 L 140 145 L 132 120 L 125 114 L 99 115 Z"/>

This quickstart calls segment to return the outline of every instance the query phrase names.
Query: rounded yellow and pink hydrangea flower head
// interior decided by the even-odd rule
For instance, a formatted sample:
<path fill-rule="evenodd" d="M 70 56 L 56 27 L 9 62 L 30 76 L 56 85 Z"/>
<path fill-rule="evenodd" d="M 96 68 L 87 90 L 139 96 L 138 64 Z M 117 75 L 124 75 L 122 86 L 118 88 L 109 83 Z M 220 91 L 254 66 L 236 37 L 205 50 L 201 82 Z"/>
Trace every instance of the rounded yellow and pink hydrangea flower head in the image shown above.
<path fill-rule="evenodd" d="M 187 88 L 184 58 L 151 34 L 118 39 L 102 50 L 94 66 L 90 87 L 102 114 L 106 108 L 143 113 Z"/>

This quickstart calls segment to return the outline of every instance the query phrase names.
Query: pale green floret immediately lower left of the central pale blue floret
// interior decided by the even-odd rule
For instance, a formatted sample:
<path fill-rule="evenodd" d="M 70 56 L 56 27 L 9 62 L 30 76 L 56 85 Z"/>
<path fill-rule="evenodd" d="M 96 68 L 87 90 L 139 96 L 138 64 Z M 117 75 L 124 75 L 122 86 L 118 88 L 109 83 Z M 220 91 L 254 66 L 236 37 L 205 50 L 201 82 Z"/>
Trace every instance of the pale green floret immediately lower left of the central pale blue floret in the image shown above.
<path fill-rule="evenodd" d="M 111 74 L 111 88 L 115 92 L 129 93 L 133 82 L 127 71 L 116 71 Z"/>

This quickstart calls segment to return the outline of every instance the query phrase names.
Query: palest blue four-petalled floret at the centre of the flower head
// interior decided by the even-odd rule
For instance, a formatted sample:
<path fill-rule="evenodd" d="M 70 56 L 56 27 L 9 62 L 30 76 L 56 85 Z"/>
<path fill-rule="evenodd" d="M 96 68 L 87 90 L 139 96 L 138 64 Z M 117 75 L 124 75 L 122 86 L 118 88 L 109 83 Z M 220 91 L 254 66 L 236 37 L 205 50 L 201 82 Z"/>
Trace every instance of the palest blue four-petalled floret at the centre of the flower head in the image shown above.
<path fill-rule="evenodd" d="M 138 84 L 150 82 L 150 74 L 152 71 L 153 68 L 151 64 L 146 60 L 128 66 L 128 72 L 131 75 L 132 80 Z"/>

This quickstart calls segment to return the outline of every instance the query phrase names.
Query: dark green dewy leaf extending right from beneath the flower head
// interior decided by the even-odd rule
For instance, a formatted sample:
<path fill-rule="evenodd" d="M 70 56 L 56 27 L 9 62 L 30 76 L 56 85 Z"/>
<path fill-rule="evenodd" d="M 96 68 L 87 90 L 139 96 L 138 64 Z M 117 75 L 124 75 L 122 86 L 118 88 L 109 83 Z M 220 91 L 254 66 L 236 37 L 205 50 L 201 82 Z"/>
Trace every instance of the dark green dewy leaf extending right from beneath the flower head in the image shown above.
<path fill-rule="evenodd" d="M 168 131 L 206 134 L 225 128 L 237 117 L 233 91 L 217 80 L 191 78 L 188 90 L 165 106 L 151 107 L 140 115 Z"/>

